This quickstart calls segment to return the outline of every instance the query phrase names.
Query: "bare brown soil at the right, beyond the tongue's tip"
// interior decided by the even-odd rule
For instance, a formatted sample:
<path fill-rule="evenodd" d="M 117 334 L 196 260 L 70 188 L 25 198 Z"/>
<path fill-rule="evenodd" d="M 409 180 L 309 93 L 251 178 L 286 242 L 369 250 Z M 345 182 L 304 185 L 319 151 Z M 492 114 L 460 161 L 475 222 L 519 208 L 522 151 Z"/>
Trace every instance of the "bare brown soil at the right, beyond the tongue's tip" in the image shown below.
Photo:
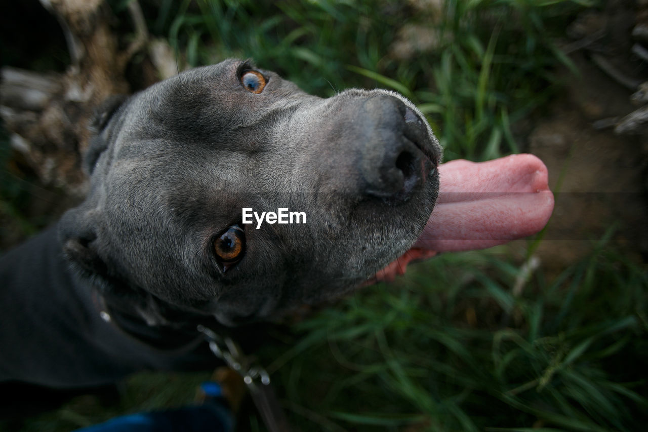
<path fill-rule="evenodd" d="M 579 75 L 562 74 L 566 87 L 535 122 L 527 151 L 547 165 L 555 210 L 538 254 L 558 270 L 589 254 L 610 231 L 608 246 L 648 261 L 648 134 L 618 135 L 596 128 L 636 106 L 621 86 L 584 53 L 572 56 Z"/>

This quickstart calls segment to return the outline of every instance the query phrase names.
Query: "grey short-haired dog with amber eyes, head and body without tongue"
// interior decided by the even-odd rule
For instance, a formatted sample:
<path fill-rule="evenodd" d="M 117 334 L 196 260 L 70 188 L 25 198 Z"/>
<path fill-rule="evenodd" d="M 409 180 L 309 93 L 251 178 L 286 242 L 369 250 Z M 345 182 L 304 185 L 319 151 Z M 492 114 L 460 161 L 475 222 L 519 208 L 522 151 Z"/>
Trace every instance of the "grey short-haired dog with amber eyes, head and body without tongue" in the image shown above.
<path fill-rule="evenodd" d="M 413 245 L 439 188 L 441 149 L 404 97 L 322 99 L 239 60 L 108 101 L 92 127 L 84 202 L 1 260 L 0 381 L 208 367 L 197 323 L 348 293 Z"/>

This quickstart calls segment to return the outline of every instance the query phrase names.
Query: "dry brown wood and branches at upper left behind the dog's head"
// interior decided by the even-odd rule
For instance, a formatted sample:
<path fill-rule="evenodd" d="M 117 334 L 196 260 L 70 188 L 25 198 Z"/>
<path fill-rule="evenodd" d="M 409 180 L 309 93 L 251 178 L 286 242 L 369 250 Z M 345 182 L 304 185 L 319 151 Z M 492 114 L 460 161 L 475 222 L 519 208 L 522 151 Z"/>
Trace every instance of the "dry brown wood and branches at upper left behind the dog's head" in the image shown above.
<path fill-rule="evenodd" d="M 119 49 L 103 0 L 41 0 L 65 33 L 71 65 L 64 74 L 1 71 L 0 115 L 14 149 L 25 155 L 45 184 L 78 195 L 86 178 L 80 169 L 87 147 L 87 125 L 108 96 L 130 91 L 124 72 L 145 47 L 148 34 L 136 1 L 129 4 L 135 40 Z"/>

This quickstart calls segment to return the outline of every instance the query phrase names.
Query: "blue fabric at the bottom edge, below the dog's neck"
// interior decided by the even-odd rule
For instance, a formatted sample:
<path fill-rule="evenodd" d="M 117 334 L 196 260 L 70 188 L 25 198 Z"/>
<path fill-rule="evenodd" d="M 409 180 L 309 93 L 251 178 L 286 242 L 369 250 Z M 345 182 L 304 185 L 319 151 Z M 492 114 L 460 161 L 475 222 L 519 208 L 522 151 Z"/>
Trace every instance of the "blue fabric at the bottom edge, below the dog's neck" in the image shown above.
<path fill-rule="evenodd" d="M 76 432 L 231 432 L 233 429 L 229 409 L 211 400 L 198 406 L 117 417 Z"/>

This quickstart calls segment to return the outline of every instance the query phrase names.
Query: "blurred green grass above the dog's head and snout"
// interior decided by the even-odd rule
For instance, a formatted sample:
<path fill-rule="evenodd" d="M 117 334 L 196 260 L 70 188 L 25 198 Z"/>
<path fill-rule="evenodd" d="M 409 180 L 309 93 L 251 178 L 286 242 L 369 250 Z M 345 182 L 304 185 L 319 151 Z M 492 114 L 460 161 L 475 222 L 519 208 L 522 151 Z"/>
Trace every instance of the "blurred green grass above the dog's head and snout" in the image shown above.
<path fill-rule="evenodd" d="M 553 44 L 588 1 L 446 1 L 414 13 L 390 1 L 165 0 L 152 27 L 191 66 L 253 58 L 322 96 L 351 86 L 397 90 L 429 114 L 446 160 L 516 152 L 510 125 L 553 95 Z M 441 2 L 439 2 L 441 3 Z M 437 40 L 399 60 L 390 51 L 404 23 Z"/>

